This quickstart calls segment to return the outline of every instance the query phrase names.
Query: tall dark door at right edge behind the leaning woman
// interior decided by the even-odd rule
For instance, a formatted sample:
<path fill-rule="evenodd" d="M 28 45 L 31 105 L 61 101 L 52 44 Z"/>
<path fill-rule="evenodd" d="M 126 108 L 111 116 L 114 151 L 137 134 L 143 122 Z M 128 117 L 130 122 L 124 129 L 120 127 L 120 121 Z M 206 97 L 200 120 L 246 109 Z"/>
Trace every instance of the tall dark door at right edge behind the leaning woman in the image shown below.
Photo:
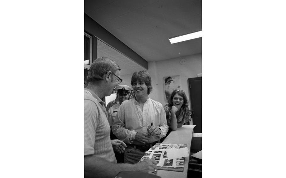
<path fill-rule="evenodd" d="M 201 77 L 189 78 L 190 108 L 193 114 L 194 133 L 201 132 Z"/>

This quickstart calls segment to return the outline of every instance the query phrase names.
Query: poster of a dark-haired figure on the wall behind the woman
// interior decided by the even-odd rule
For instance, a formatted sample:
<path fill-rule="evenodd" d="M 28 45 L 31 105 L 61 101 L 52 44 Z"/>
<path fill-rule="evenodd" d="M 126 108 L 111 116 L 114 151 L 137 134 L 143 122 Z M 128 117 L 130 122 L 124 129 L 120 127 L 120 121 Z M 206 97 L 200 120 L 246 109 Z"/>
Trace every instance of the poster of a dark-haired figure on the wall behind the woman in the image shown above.
<path fill-rule="evenodd" d="M 181 90 L 181 79 L 180 76 L 167 76 L 163 77 L 164 82 L 164 100 L 168 103 L 169 97 L 174 90 Z"/>

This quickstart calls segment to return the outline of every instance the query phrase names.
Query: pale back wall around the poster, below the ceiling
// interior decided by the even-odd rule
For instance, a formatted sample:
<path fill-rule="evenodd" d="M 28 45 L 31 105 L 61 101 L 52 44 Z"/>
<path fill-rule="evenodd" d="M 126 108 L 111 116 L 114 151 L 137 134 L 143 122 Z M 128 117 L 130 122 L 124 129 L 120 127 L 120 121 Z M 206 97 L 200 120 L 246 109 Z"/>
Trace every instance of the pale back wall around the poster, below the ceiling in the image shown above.
<path fill-rule="evenodd" d="M 185 59 L 185 65 L 180 64 L 180 60 Z M 190 100 L 188 78 L 197 77 L 202 73 L 201 54 L 184 56 L 174 59 L 151 61 L 148 62 L 148 72 L 152 79 L 153 91 L 149 97 L 153 100 L 161 102 L 162 105 L 167 104 L 164 101 L 164 82 L 163 77 L 180 75 L 182 90 L 186 92 L 188 100 Z M 121 76 L 123 85 L 130 85 L 132 74 Z M 189 101 L 190 102 L 190 101 Z"/>

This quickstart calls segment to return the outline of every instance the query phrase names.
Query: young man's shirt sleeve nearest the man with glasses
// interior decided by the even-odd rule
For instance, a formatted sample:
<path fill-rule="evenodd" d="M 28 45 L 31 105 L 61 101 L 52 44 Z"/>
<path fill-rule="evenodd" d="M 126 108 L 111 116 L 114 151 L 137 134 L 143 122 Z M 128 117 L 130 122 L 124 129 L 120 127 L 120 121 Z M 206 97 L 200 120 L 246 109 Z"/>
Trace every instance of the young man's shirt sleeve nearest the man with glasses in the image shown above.
<path fill-rule="evenodd" d="M 125 128 L 125 116 L 124 116 L 124 105 L 121 104 L 119 106 L 118 112 L 115 116 L 113 125 L 112 125 L 112 132 L 114 135 L 117 136 L 118 139 L 124 141 L 125 143 L 133 143 L 135 140 L 136 131 L 129 130 Z"/>

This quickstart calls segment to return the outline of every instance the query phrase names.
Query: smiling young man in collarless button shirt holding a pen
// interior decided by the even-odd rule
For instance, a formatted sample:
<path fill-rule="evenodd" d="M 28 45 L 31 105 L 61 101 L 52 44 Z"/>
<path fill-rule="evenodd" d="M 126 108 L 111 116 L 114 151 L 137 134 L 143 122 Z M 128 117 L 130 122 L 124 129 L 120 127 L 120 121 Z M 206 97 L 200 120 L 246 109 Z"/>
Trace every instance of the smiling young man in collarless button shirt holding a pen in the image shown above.
<path fill-rule="evenodd" d="M 120 105 L 112 131 L 127 144 L 124 163 L 134 164 L 167 134 L 168 125 L 163 105 L 148 97 L 152 90 L 149 73 L 134 72 L 131 85 L 136 97 Z"/>

